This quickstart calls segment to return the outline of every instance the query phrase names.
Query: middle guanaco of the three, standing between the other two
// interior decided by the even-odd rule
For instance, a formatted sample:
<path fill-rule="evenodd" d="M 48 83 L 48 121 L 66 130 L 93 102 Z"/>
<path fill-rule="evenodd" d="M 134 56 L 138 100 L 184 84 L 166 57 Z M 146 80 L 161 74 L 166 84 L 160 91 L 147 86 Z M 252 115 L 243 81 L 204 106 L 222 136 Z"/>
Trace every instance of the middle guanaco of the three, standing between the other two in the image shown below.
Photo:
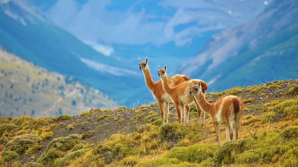
<path fill-rule="evenodd" d="M 188 92 L 191 87 L 190 83 L 185 81 L 172 88 L 169 85 L 170 79 L 168 79 L 166 74 L 167 67 L 165 66 L 164 69 L 161 69 L 160 66 L 158 66 L 158 68 L 158 76 L 161 78 L 162 88 L 171 97 L 172 101 L 176 105 L 179 123 L 188 123 L 189 110 L 186 110 L 185 113 L 184 106 L 192 104 L 195 100 L 191 96 L 188 96 Z M 198 79 L 191 79 L 190 81 L 193 83 L 197 83 Z M 207 84 L 205 88 L 207 90 Z M 198 115 L 201 116 L 201 108 L 198 106 L 196 107 L 198 110 Z"/>

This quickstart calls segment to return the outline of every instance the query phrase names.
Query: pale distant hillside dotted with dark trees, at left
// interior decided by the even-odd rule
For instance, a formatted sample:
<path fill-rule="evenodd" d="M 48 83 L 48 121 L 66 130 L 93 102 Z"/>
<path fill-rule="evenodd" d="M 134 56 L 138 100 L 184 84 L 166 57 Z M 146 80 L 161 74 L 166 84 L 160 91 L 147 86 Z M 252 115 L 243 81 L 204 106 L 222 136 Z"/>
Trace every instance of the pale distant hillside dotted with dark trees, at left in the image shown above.
<path fill-rule="evenodd" d="M 0 115 L 52 117 L 116 105 L 97 89 L 0 49 Z"/>

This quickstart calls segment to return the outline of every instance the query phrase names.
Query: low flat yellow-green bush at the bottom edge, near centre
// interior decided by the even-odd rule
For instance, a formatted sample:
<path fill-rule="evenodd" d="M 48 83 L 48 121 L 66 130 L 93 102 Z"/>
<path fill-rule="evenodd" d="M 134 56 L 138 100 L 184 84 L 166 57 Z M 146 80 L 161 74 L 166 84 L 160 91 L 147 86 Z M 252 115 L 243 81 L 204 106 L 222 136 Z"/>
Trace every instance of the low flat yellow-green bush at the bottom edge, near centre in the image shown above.
<path fill-rule="evenodd" d="M 162 157 L 162 158 L 158 158 L 158 159 L 155 159 L 155 160 L 140 162 L 136 166 L 137 167 L 147 167 L 147 166 L 159 167 L 159 166 L 162 166 L 162 165 L 172 166 L 172 165 L 178 164 L 178 163 L 179 163 L 179 160 L 177 160 L 176 158 L 164 158 L 164 157 Z"/>

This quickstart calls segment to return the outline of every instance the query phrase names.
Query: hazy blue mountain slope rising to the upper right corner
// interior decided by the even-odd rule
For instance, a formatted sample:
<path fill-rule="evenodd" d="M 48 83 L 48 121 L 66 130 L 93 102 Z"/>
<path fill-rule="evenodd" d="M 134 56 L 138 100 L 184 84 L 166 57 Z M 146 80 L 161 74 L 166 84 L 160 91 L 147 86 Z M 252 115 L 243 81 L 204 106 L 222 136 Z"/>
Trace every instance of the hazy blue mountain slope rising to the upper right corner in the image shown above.
<path fill-rule="evenodd" d="M 296 78 L 297 7 L 297 0 L 272 2 L 255 19 L 213 35 L 179 71 L 215 91 Z"/>

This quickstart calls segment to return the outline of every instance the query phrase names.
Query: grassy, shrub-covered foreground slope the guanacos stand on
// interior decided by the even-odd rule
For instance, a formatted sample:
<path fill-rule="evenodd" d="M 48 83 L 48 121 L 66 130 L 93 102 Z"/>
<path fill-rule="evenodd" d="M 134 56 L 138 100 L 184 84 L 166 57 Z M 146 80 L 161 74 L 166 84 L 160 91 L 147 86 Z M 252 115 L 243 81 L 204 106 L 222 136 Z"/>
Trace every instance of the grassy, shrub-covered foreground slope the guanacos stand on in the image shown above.
<path fill-rule="evenodd" d="M 298 80 L 208 93 L 208 101 L 234 94 L 245 101 L 238 141 L 227 142 L 212 121 L 161 125 L 158 105 L 91 109 L 70 117 L 1 117 L 1 166 L 297 166 Z M 23 147 L 21 147 L 23 146 Z"/>

